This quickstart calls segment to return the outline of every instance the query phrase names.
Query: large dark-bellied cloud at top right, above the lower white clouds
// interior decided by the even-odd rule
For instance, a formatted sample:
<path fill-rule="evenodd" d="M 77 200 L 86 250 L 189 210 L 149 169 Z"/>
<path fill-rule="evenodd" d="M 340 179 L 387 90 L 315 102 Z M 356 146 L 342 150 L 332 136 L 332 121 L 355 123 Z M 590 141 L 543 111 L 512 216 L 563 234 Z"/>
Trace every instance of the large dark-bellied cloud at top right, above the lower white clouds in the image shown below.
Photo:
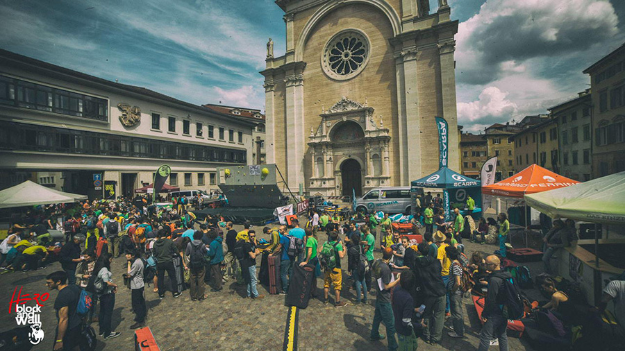
<path fill-rule="evenodd" d="M 577 55 L 614 40 L 617 25 L 608 0 L 487 1 L 458 26 L 458 81 L 487 84 L 531 58 Z"/>

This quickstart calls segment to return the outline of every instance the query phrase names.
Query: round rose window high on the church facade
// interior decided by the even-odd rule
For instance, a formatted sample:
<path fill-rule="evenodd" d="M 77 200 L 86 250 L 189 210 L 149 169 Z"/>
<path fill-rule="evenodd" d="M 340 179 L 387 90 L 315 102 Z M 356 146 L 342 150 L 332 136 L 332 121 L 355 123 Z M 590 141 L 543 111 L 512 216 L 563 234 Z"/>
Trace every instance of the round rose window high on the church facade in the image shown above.
<path fill-rule="evenodd" d="M 369 39 L 360 31 L 350 29 L 336 34 L 323 51 L 324 72 L 336 80 L 353 78 L 367 65 L 369 49 Z"/>

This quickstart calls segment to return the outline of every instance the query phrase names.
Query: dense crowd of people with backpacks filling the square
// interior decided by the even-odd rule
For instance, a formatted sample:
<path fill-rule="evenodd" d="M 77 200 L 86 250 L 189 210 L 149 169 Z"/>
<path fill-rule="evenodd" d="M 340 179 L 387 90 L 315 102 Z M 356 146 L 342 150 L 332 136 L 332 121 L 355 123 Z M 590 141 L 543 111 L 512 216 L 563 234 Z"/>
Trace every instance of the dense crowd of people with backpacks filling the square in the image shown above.
<path fill-rule="evenodd" d="M 153 293 L 158 293 L 160 299 L 165 298 L 167 291 L 178 298 L 188 289 L 191 300 L 201 302 L 209 296 L 207 285 L 219 293 L 229 280 L 244 288 L 240 289 L 243 298 L 264 298 L 258 284 L 269 284 L 267 259 L 274 256 L 279 262 L 271 268 L 277 277 L 278 294 L 285 295 L 297 288 L 291 282 L 294 267 L 299 265 L 311 266 L 315 276 L 322 277 L 323 293 L 317 291 L 315 279 L 312 296 L 322 298 L 324 305 L 332 301 L 335 308 L 347 306 L 344 289 L 355 291 L 353 304 L 357 306 L 366 305 L 374 295 L 370 339 L 387 339 L 389 350 L 414 351 L 419 337 L 432 345 L 440 343 L 443 337 L 465 337 L 462 298 L 469 293 L 485 297 L 478 350 L 487 350 L 495 340 L 500 350 L 508 350 L 508 316 L 503 307 L 508 304 L 509 294 L 504 286 L 511 275 L 501 268 L 501 259 L 506 257 L 506 246 L 501 242 L 506 241 L 510 229 L 506 214 L 499 214 L 496 225 L 498 255 L 484 257 L 474 252 L 468 259 L 462 245 L 462 215 L 454 209 L 453 221 L 445 222 L 442 207 L 437 205 L 441 201 L 436 199 L 426 197 L 423 201 L 425 232 L 418 244 L 394 230 L 387 214 L 378 218 L 356 213 L 343 219 L 336 212 L 331 215 L 313 209 L 305 224 L 300 225 L 294 218 L 285 225 L 264 227 L 263 236 L 268 238 L 265 240 L 256 236 L 251 223 L 244 223 L 243 230 L 236 231 L 233 223 L 221 216 L 206 216 L 199 221 L 191 208 L 179 200 L 174 208 L 151 206 L 140 196 L 55 205 L 15 219 L 0 245 L 0 264 L 6 264 L 4 271 L 22 271 L 43 269 L 54 260 L 60 262 L 62 271 L 47 276 L 49 289 L 59 291 L 55 302 L 58 328 L 54 350 L 75 350 L 77 333 L 85 323 L 97 322 L 103 339 L 119 336 L 120 332 L 111 327 L 119 284 L 113 279 L 111 263 L 122 255 L 127 262 L 123 284 L 131 289 L 135 315 L 131 329 L 146 323 L 145 289 L 151 283 Z M 64 245 L 47 233 L 56 228 L 56 223 L 67 235 Z M 575 239 L 565 231 L 568 224 L 556 221 L 556 229 L 545 237 L 544 255 L 550 255 L 549 248 L 555 250 Z M 480 241 L 479 237 L 484 241 L 488 227 L 481 219 L 472 233 L 473 241 Z M 320 233 L 327 235 L 323 244 L 317 239 Z M 381 257 L 376 259 L 378 235 Z M 347 267 L 342 266 L 345 257 Z M 549 260 L 545 264 L 549 271 Z M 553 290 L 549 280 L 544 284 L 545 290 Z M 79 318 L 74 309 L 83 290 L 90 294 L 93 303 L 88 313 Z M 622 285 L 612 286 L 608 293 L 622 304 L 623 291 Z M 553 290 L 552 296 L 545 308 L 566 306 L 561 293 Z M 446 318 L 451 318 L 452 326 L 444 336 Z M 385 325 L 385 335 L 379 332 L 381 323 Z"/>

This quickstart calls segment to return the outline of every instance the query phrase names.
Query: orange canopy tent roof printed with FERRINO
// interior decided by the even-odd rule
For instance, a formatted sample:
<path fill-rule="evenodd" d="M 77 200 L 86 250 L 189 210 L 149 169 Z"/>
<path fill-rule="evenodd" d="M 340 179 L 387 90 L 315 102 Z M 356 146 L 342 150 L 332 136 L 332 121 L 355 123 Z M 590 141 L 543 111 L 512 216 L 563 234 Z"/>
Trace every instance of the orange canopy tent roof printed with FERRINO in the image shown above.
<path fill-rule="evenodd" d="M 577 183 L 577 180 L 560 176 L 557 173 L 549 171 L 549 169 L 544 169 L 537 164 L 532 164 L 510 178 L 482 187 L 482 194 L 506 196 L 508 198 L 523 198 L 526 194 L 569 187 Z"/>

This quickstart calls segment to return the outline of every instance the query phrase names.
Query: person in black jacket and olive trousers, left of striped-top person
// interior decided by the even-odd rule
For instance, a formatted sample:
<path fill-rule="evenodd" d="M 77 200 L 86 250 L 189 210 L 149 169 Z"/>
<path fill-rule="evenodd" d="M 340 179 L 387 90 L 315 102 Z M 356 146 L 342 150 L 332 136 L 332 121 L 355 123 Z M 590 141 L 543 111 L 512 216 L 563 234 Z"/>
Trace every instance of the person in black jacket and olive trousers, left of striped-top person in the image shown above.
<path fill-rule="evenodd" d="M 428 255 L 430 247 L 427 243 L 419 243 L 417 246 L 419 256 L 415 259 L 413 272 L 417 278 L 417 286 L 421 296 L 425 300 L 423 314 L 426 327 L 423 336 L 426 343 L 435 345 L 440 343 L 445 314 L 445 284 L 440 271 L 440 261 Z"/>

